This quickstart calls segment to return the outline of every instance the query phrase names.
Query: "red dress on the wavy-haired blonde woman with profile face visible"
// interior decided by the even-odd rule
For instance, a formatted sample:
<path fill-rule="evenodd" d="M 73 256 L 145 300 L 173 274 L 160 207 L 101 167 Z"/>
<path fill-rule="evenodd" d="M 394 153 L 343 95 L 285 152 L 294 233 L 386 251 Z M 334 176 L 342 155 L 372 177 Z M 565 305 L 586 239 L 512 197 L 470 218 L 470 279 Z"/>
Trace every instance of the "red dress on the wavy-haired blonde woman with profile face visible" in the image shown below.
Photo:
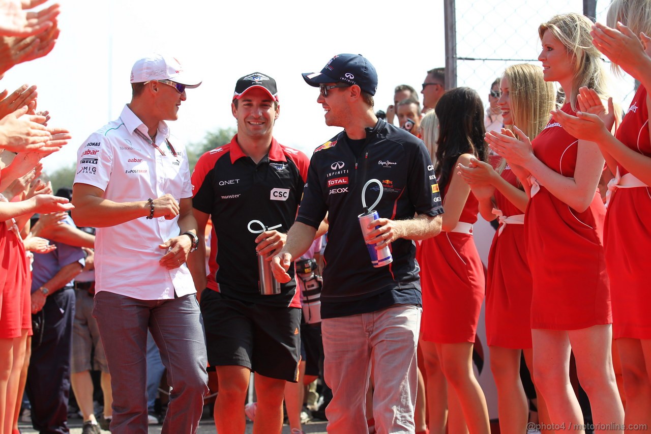
<path fill-rule="evenodd" d="M 570 104 L 562 110 L 574 114 Z M 553 119 L 533 140 L 536 157 L 573 177 L 578 141 Z M 533 185 L 525 212 L 525 243 L 533 278 L 531 328 L 578 330 L 612 323 L 603 254 L 605 207 L 598 191 L 588 209 L 571 209 Z"/>

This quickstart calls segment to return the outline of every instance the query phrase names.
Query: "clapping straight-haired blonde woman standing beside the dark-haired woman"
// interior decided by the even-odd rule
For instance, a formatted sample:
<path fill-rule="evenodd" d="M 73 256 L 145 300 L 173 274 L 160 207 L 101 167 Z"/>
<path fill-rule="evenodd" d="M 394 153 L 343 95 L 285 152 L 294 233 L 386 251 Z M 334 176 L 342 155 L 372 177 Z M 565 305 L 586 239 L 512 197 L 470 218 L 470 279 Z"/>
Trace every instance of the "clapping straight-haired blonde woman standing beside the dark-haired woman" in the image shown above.
<path fill-rule="evenodd" d="M 518 125 L 528 137 L 536 137 L 554 108 L 553 85 L 543 80 L 542 68 L 512 65 L 499 85 L 497 104 L 505 126 Z M 490 367 L 497 386 L 500 431 L 523 433 L 529 406 L 520 380 L 520 354 L 533 370 L 531 345 L 531 272 L 527 264 L 524 212 L 529 197 L 511 167 L 503 159 L 497 169 L 476 159 L 458 166 L 460 175 L 479 201 L 485 220 L 499 219 L 488 255 L 486 278 L 486 338 Z M 545 414 L 538 397 L 538 412 Z"/>

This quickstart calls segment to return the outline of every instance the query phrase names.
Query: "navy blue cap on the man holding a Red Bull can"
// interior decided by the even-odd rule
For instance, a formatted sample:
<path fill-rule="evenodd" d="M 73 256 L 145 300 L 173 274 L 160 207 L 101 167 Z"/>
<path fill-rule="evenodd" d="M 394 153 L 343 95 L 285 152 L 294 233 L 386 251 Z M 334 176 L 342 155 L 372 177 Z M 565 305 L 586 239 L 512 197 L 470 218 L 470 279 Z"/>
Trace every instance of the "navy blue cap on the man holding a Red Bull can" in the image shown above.
<path fill-rule="evenodd" d="M 335 55 L 321 72 L 305 72 L 303 80 L 314 87 L 322 83 L 356 84 L 372 95 L 378 90 L 378 73 L 361 54 Z"/>

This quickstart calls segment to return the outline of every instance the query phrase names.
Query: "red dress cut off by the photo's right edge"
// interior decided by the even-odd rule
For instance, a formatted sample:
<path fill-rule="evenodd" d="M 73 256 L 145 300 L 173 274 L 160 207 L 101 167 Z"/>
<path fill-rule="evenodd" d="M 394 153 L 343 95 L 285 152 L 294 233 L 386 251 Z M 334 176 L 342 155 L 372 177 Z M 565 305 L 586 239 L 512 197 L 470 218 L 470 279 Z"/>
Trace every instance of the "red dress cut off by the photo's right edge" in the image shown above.
<path fill-rule="evenodd" d="M 640 86 L 615 136 L 624 145 L 651 156 L 646 89 Z M 620 175 L 628 171 L 618 164 Z M 646 267 L 651 248 L 651 191 L 617 188 L 606 213 L 604 247 L 613 298 L 613 338 L 651 339 L 651 291 Z"/>

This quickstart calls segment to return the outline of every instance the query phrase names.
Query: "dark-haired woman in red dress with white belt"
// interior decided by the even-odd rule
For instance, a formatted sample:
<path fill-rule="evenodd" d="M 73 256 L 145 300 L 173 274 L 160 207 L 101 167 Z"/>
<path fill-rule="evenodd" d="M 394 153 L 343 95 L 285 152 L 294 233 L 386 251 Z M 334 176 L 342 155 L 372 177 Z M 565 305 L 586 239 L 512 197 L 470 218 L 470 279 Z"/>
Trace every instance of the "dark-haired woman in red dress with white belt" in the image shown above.
<path fill-rule="evenodd" d="M 486 158 L 484 109 L 477 92 L 458 87 L 436 104 L 436 174 L 443 194 L 443 231 L 421 244 L 422 352 L 436 354 L 471 433 L 488 433 L 488 409 L 472 368 L 473 343 L 484 300 L 484 267 L 475 240 L 477 199 L 457 164 Z M 427 363 L 427 362 L 426 362 Z M 436 399 L 436 398 L 434 398 Z M 450 399 L 453 399 L 450 397 Z"/>

